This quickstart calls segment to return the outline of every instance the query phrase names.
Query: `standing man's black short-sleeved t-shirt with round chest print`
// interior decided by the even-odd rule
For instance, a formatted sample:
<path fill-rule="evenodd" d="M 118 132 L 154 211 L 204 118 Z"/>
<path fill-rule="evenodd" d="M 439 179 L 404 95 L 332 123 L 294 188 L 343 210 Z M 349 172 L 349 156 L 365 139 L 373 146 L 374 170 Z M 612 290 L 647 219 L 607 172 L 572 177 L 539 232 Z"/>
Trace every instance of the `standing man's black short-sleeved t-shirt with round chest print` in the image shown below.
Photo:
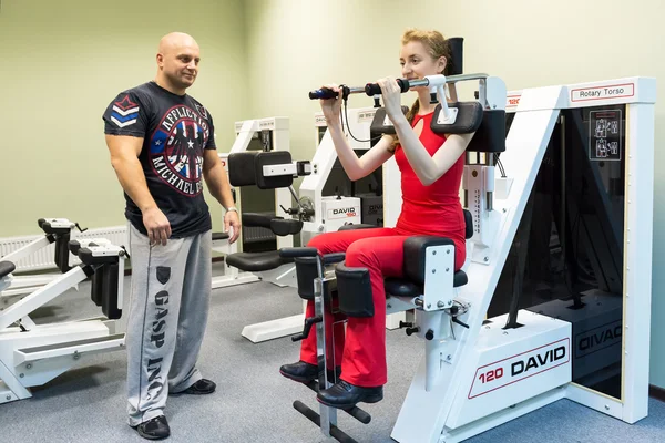
<path fill-rule="evenodd" d="M 212 229 L 203 197 L 203 152 L 215 150 L 213 119 L 188 95 L 155 82 L 119 94 L 103 120 L 104 133 L 143 138 L 139 159 L 147 188 L 171 223 L 172 237 Z M 143 234 L 143 214 L 125 193 L 125 216 Z"/>

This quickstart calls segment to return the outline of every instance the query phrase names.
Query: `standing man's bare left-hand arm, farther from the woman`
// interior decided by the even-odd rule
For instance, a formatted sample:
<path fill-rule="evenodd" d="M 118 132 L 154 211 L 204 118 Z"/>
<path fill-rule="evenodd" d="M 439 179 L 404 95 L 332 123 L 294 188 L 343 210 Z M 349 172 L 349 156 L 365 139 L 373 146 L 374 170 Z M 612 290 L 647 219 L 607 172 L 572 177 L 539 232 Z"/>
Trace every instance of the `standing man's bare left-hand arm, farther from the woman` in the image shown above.
<path fill-rule="evenodd" d="M 145 175 L 139 161 L 143 138 L 106 134 L 106 145 L 111 153 L 111 165 L 122 188 L 143 214 L 143 224 L 151 243 L 166 245 L 166 240 L 171 237 L 171 224 L 147 189 Z"/>

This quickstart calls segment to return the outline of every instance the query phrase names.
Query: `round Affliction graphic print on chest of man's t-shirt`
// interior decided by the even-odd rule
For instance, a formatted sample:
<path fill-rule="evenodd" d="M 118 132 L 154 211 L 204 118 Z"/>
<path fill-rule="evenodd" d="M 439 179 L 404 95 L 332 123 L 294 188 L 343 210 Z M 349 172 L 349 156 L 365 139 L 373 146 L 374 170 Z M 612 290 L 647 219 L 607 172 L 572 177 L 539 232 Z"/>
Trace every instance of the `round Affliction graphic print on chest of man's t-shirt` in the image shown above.
<path fill-rule="evenodd" d="M 150 144 L 155 174 L 173 189 L 187 196 L 201 194 L 203 150 L 209 136 L 207 122 L 185 105 L 168 110 Z"/>

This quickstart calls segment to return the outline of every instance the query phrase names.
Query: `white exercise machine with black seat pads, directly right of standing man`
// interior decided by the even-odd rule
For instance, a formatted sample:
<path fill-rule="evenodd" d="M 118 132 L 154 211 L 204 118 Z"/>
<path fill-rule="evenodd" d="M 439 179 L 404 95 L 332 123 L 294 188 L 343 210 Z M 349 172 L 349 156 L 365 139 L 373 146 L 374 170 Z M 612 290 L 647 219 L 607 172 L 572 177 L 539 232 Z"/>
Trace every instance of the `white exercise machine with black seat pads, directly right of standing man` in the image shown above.
<path fill-rule="evenodd" d="M 235 131 L 237 137 L 231 152 L 219 156 L 228 173 L 234 195 L 241 205 L 243 251 L 238 251 L 235 245 L 228 246 L 226 241 L 225 266 L 232 269 L 229 275 L 245 276 L 246 281 L 260 279 L 279 287 L 296 287 L 295 265 L 293 261 L 280 259 L 278 249 L 293 246 L 294 236 L 303 228 L 301 223 L 294 224 L 289 220 L 291 195 L 295 195 L 291 186 L 293 176 L 294 174 L 297 176 L 298 172 L 287 165 L 288 171 L 280 179 L 279 174 L 284 171 L 264 172 L 262 163 L 266 158 L 279 158 L 278 162 L 283 162 L 287 157 L 286 163 L 291 162 L 288 119 L 267 117 L 236 122 Z M 258 146 L 252 146 L 253 143 Z M 275 154 L 266 156 L 266 153 Z M 260 156 L 257 157 L 258 154 Z M 255 158 L 259 158 L 256 165 Z M 300 165 L 305 167 L 305 163 Z M 306 173 L 308 172 L 300 171 L 301 175 Z M 253 208 L 260 207 L 266 199 L 265 189 L 273 192 L 274 207 L 267 213 L 253 212 Z M 285 219 L 284 216 L 287 218 Z M 238 270 L 242 272 L 238 274 Z M 258 343 L 294 334 L 301 329 L 303 321 L 303 313 L 298 313 L 248 324 L 243 328 L 242 336 Z"/>

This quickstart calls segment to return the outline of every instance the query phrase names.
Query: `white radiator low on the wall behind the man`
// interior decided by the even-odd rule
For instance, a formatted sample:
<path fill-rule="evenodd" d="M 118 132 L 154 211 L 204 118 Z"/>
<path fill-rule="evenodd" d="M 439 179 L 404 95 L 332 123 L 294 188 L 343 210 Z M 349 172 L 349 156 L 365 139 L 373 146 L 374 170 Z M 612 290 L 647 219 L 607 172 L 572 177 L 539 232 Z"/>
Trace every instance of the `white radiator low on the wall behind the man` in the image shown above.
<path fill-rule="evenodd" d="M 124 245 L 127 247 L 126 240 L 126 226 L 110 226 L 104 228 L 88 229 L 84 233 L 80 233 L 78 229 L 72 230 L 71 239 L 74 238 L 106 238 L 114 245 Z M 22 248 L 29 243 L 38 239 L 41 236 L 25 236 L 25 237 L 4 237 L 0 238 L 0 257 L 13 253 L 14 250 Z M 17 272 L 30 271 L 30 270 L 44 270 L 55 268 L 55 244 L 52 243 L 45 248 L 41 248 L 37 253 L 29 257 L 25 257 L 17 262 Z M 79 257 L 70 253 L 70 266 L 80 264 Z"/>

